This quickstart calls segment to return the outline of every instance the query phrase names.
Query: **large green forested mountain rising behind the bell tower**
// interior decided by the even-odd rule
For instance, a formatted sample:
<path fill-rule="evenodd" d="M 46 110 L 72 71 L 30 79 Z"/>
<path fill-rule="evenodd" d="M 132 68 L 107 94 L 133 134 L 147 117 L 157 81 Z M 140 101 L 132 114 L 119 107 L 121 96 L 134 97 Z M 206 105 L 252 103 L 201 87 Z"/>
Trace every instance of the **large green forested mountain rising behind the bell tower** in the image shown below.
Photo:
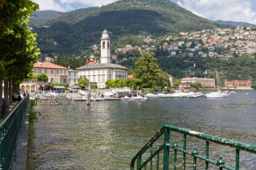
<path fill-rule="evenodd" d="M 41 12 L 53 11 L 38 11 Z M 53 19 L 45 16 L 40 21 L 42 24 L 38 24 L 36 17 L 31 20 L 33 32 L 38 33 L 37 42 L 42 54 L 82 55 L 92 44 L 99 44 L 105 28 L 112 33 L 110 36 L 115 42 L 127 35 L 162 36 L 169 32 L 222 26 L 198 17 L 169 0 L 123 0 L 102 7 L 58 13 L 52 15 Z"/>

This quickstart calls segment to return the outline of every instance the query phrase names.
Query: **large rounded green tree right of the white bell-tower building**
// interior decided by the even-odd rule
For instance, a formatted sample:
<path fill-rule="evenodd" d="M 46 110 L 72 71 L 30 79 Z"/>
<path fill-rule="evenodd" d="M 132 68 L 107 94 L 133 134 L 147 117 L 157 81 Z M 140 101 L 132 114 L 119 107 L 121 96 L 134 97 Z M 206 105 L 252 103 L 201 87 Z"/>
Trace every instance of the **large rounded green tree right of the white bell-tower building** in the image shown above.
<path fill-rule="evenodd" d="M 168 85 L 167 75 L 158 66 L 154 53 L 143 52 L 135 61 L 135 78 L 141 79 L 142 87 L 158 89 Z"/>

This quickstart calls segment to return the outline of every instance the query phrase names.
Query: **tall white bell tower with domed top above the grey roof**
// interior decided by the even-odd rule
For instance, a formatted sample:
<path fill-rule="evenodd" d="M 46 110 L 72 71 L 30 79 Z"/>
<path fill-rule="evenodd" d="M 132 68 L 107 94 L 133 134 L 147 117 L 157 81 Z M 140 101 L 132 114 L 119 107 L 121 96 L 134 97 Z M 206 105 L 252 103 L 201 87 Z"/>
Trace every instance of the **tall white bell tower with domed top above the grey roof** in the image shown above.
<path fill-rule="evenodd" d="M 102 38 L 100 38 L 100 52 L 100 63 L 110 63 L 110 38 L 107 30 L 102 32 Z"/>

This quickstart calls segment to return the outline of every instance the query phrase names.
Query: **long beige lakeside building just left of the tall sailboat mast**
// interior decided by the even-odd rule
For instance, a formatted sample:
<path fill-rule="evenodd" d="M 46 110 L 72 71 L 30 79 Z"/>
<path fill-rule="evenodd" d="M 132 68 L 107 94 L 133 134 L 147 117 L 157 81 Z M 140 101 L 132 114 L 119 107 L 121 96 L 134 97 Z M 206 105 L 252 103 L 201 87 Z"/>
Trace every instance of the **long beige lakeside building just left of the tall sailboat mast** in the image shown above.
<path fill-rule="evenodd" d="M 191 87 L 189 85 L 190 82 L 199 82 L 203 85 L 203 87 L 215 88 L 215 79 L 187 77 L 187 78 L 181 79 L 181 82 L 179 83 L 179 89 L 190 88 Z"/>

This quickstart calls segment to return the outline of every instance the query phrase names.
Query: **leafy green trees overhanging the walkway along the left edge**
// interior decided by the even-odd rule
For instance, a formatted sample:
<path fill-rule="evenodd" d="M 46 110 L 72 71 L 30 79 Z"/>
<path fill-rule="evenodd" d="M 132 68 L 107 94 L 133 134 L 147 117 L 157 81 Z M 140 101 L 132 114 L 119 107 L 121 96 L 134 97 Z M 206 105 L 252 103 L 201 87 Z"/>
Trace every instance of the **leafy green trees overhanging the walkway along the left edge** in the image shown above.
<path fill-rule="evenodd" d="M 0 94 L 4 80 L 4 95 L 10 102 L 11 91 L 20 92 L 18 84 L 32 75 L 32 60 L 38 55 L 36 34 L 26 26 L 28 16 L 38 8 L 30 0 L 0 1 Z"/>

